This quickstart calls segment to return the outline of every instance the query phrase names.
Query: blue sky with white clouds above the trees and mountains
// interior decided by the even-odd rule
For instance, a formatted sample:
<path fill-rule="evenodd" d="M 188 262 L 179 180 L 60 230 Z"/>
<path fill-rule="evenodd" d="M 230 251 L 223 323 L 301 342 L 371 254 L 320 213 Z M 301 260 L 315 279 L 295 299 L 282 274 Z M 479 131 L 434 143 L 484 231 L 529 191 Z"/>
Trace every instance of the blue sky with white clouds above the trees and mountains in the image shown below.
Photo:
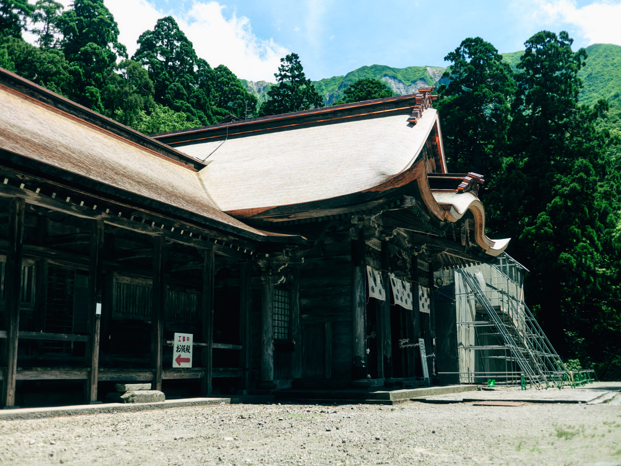
<path fill-rule="evenodd" d="M 300 55 L 313 80 L 363 65 L 445 66 L 446 53 L 481 36 L 499 52 L 521 50 L 538 30 L 568 30 L 577 47 L 621 45 L 621 0 L 285 1 L 106 0 L 135 48 L 140 32 L 172 14 L 199 57 L 240 78 L 273 81 L 278 59 Z"/>

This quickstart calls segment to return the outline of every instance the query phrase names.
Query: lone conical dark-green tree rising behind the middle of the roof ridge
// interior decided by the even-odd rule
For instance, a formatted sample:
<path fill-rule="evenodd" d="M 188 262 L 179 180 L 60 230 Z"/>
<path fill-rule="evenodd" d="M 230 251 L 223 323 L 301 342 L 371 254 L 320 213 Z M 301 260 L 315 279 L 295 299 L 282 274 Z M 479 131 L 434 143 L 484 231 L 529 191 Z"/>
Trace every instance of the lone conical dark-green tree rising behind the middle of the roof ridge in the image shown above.
<path fill-rule="evenodd" d="M 260 116 L 279 115 L 323 107 L 323 98 L 306 78 L 304 68 L 297 53 L 280 59 L 278 73 L 274 73 L 278 86 L 268 92 L 270 100 L 261 105 Z"/>

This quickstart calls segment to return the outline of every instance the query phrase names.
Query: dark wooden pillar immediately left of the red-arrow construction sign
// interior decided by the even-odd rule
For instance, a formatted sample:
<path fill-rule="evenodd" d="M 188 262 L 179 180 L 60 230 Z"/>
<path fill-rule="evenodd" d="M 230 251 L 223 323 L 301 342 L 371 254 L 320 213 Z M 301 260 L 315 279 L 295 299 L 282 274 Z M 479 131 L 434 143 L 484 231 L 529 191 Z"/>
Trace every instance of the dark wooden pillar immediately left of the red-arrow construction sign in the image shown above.
<path fill-rule="evenodd" d="M 162 357 L 166 306 L 166 238 L 153 237 L 153 285 L 151 295 L 151 368 L 153 390 L 161 390 Z"/>

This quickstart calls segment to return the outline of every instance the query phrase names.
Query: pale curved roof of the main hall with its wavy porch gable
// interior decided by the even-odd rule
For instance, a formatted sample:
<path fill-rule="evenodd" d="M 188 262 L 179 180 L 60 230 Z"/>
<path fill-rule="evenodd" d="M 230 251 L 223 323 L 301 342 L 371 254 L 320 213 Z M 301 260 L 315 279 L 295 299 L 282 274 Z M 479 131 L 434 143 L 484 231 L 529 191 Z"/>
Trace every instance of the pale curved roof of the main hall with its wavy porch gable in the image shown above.
<path fill-rule="evenodd" d="M 486 237 L 484 207 L 473 193 L 430 190 L 423 148 L 433 130 L 446 173 L 438 112 L 428 108 L 414 125 L 410 111 L 397 108 L 256 132 L 236 128 L 233 135 L 217 137 L 210 137 L 207 127 L 194 140 L 193 130 L 176 132 L 179 142 L 171 144 L 208 163 L 199 171 L 205 190 L 218 208 L 237 218 L 283 214 L 288 207 L 298 216 L 306 208 L 311 214 L 321 201 L 360 203 L 414 183 L 427 211 L 440 222 L 456 222 L 471 211 L 476 244 L 487 254 L 500 254 L 509 240 Z"/>

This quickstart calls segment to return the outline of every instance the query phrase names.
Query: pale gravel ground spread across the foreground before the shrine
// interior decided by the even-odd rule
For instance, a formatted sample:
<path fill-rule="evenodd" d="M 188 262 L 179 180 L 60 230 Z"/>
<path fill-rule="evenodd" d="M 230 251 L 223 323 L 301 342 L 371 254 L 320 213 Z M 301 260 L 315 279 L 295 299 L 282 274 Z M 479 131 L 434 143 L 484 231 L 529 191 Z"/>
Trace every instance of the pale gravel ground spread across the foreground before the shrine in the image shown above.
<path fill-rule="evenodd" d="M 621 465 L 621 405 L 221 405 L 0 421 L 14 465 Z"/>

